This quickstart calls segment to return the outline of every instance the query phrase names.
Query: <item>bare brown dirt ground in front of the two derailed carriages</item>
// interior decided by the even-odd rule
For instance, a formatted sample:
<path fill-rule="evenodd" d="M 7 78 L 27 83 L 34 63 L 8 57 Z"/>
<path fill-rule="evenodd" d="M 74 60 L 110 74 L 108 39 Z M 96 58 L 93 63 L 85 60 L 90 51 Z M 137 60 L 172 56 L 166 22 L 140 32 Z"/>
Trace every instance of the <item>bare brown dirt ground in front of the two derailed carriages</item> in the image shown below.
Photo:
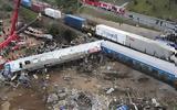
<path fill-rule="evenodd" d="M 46 82 L 46 89 L 42 89 L 42 74 L 37 74 L 38 79 L 31 76 L 32 87 L 17 88 L 6 86 L 0 88 L 0 110 L 49 110 L 46 105 L 46 95 L 53 92 L 54 87 L 77 89 L 92 95 L 103 95 L 112 98 L 127 97 L 123 91 L 131 88 L 131 97 L 136 98 L 156 98 L 158 102 L 166 106 L 167 110 L 177 109 L 177 92 L 170 86 L 160 82 L 143 73 L 134 70 L 116 61 L 108 61 L 105 64 L 94 67 L 92 73 L 77 70 L 79 64 L 67 64 L 58 66 L 48 73 L 50 78 Z M 105 72 L 115 70 L 124 74 L 124 77 L 105 78 Z M 146 80 L 139 80 L 139 79 Z M 111 95 L 105 94 L 105 88 L 117 88 Z M 52 109 L 53 110 L 53 109 Z"/>

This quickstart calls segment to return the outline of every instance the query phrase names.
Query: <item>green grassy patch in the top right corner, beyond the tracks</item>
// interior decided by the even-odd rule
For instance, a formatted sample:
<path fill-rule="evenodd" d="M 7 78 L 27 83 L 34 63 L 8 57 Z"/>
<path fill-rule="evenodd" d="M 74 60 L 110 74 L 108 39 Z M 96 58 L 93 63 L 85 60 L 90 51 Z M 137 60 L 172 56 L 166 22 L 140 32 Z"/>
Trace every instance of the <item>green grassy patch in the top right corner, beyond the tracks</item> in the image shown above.
<path fill-rule="evenodd" d="M 177 21 L 177 0 L 133 0 L 127 8 L 134 12 Z"/>

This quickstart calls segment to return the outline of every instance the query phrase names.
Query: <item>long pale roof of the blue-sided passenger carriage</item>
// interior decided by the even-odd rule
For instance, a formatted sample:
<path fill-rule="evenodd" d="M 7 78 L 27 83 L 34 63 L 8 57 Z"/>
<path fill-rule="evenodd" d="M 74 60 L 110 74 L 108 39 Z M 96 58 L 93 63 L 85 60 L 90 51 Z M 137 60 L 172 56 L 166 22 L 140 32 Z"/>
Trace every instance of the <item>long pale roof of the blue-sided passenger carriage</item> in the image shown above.
<path fill-rule="evenodd" d="M 131 50 L 128 47 L 125 47 L 125 46 L 122 46 L 122 45 L 118 45 L 118 44 L 115 44 L 115 43 L 112 43 L 108 41 L 103 42 L 102 46 L 107 47 L 113 51 L 118 51 L 118 53 L 121 53 L 121 54 L 124 54 L 128 57 L 132 57 L 132 58 L 139 61 L 142 63 L 145 63 L 147 65 L 152 65 L 155 68 L 174 74 L 177 77 L 177 66 L 175 66 L 175 64 L 173 64 L 173 63 L 165 62 L 163 59 L 143 54 L 140 52 Z"/>

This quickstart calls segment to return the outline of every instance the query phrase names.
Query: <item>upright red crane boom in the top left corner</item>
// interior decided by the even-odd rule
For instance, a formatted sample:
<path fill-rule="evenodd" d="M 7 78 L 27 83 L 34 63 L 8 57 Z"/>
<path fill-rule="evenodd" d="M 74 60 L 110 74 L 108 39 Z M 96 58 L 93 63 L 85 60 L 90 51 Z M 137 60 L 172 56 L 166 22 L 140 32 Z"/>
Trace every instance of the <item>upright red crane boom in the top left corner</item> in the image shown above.
<path fill-rule="evenodd" d="M 18 21 L 20 3 L 21 3 L 21 0 L 17 0 L 15 9 L 14 9 L 13 16 L 12 16 L 12 25 L 11 25 L 11 30 L 10 30 L 10 35 L 13 35 L 13 33 L 15 31 L 15 23 Z"/>

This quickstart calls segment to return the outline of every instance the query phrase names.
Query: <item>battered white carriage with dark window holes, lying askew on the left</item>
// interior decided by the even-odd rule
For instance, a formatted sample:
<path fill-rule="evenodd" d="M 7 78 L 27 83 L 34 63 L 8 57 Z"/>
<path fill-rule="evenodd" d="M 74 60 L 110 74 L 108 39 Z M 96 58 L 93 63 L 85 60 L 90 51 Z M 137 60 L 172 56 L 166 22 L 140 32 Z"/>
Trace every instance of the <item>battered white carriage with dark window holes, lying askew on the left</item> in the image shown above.
<path fill-rule="evenodd" d="M 52 66 L 55 64 L 79 59 L 87 54 L 100 52 L 102 42 L 103 41 L 96 41 L 73 47 L 33 55 L 17 61 L 11 61 L 4 64 L 4 70 L 9 73 L 15 73 L 24 69 L 34 70 L 45 66 Z"/>

